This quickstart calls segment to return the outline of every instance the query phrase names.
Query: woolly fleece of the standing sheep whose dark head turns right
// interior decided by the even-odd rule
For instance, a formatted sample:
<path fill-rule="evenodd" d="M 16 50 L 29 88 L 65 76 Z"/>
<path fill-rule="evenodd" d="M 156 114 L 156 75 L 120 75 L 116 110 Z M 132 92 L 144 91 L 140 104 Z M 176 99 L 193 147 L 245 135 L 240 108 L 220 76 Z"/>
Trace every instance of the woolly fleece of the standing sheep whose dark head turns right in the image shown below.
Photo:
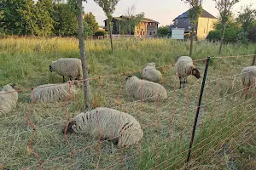
<path fill-rule="evenodd" d="M 189 56 L 181 56 L 175 63 L 176 75 L 181 78 L 188 77 L 194 67 L 193 60 Z"/>

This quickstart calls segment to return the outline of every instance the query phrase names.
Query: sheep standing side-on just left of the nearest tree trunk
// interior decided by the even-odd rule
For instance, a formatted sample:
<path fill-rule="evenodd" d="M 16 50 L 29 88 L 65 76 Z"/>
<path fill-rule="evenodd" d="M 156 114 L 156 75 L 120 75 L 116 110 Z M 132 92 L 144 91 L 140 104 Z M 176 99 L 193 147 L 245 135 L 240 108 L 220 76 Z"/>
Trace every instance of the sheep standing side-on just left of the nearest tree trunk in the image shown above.
<path fill-rule="evenodd" d="M 69 80 L 78 80 L 83 77 L 81 59 L 76 58 L 61 58 L 51 62 L 49 65 L 49 71 L 55 71 L 57 74 L 63 77 L 69 77 Z"/>

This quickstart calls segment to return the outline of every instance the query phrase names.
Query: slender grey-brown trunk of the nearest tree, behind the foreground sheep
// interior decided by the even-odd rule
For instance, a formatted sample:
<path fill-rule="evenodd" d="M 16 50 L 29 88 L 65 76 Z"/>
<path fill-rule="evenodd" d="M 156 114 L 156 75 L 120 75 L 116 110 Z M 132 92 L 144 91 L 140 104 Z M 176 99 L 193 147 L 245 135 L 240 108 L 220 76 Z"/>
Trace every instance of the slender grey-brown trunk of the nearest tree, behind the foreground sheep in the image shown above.
<path fill-rule="evenodd" d="M 84 80 L 88 78 L 87 74 L 87 64 L 86 64 L 86 55 L 85 55 L 85 46 L 84 46 L 84 20 L 83 20 L 83 0 L 78 1 L 79 5 L 79 49 L 80 49 L 80 58 L 82 61 L 82 69 L 83 69 L 83 78 Z M 88 80 L 84 81 L 84 102 L 87 108 L 90 108 L 90 94 L 89 94 L 89 87 L 88 87 Z"/>

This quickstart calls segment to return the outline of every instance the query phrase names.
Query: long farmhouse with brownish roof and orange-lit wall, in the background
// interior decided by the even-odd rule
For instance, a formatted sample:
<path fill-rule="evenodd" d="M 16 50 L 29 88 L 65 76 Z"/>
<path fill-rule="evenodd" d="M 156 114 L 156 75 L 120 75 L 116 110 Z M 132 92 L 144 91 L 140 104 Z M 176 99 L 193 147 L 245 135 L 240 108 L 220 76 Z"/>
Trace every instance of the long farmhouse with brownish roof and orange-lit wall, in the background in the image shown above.
<path fill-rule="evenodd" d="M 104 20 L 105 29 L 108 30 L 108 20 Z M 113 17 L 113 34 L 129 34 L 129 31 L 121 31 L 122 22 L 128 22 L 128 18 L 125 16 Z M 135 37 L 155 37 L 157 36 L 159 22 L 143 18 L 138 26 L 131 31 L 131 35 Z"/>

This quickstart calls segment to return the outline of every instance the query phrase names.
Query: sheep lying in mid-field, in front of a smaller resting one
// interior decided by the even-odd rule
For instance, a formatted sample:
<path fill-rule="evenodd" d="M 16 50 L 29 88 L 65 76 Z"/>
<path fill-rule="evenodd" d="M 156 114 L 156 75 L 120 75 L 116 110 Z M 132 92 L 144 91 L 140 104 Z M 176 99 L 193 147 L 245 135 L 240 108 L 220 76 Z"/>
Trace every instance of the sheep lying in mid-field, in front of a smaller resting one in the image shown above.
<path fill-rule="evenodd" d="M 162 85 L 155 82 L 148 82 L 147 80 L 141 80 L 135 76 L 125 78 L 125 90 L 126 93 L 134 99 L 143 98 L 147 101 L 156 101 L 159 96 L 160 99 L 167 99 L 166 88 Z"/>

